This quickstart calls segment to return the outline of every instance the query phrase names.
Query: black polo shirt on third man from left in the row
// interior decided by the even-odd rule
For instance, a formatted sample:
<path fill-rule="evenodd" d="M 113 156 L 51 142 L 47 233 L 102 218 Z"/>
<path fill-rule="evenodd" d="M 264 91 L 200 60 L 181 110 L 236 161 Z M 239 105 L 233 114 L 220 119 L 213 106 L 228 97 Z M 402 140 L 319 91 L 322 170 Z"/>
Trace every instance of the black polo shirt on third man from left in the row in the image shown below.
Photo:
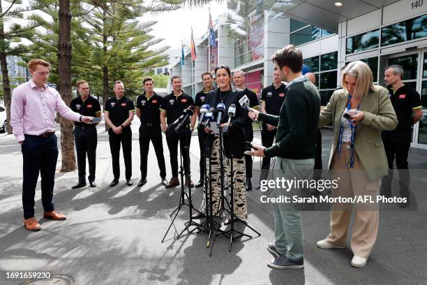
<path fill-rule="evenodd" d="M 160 105 L 162 101 L 163 97 L 156 93 L 150 98 L 147 98 L 145 92 L 138 96 L 136 108 L 141 110 L 141 123 L 160 125 Z"/>

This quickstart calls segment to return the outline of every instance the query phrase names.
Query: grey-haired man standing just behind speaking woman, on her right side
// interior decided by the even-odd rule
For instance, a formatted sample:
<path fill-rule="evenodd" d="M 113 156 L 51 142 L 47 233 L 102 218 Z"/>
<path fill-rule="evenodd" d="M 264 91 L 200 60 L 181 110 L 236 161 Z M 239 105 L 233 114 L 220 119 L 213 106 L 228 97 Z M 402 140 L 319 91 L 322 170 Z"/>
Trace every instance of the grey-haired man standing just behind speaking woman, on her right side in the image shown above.
<path fill-rule="evenodd" d="M 252 90 L 246 88 L 245 86 L 245 73 L 241 70 L 235 70 L 233 72 L 233 82 L 234 86 L 238 89 L 242 89 L 243 96 L 246 95 L 249 99 L 249 107 L 257 109 L 260 105 L 258 102 L 258 96 Z M 248 124 L 244 127 L 245 132 L 245 140 L 248 142 L 252 142 L 253 140 L 253 129 L 252 122 L 248 121 Z M 245 168 L 246 168 L 246 191 L 252 190 L 252 182 L 250 179 L 252 178 L 252 156 L 245 154 Z"/>

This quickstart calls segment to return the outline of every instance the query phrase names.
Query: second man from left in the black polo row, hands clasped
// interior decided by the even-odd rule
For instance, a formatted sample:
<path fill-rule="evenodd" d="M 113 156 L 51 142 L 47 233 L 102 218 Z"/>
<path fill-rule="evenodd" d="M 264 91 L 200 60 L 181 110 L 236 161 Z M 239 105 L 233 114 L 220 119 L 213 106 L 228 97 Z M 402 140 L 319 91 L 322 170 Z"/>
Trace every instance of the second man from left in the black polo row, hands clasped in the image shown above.
<path fill-rule="evenodd" d="M 120 144 L 123 148 L 123 158 L 126 168 L 126 184 L 133 184 L 132 176 L 132 130 L 130 123 L 135 114 L 135 104 L 130 98 L 124 96 L 123 82 L 117 80 L 113 83 L 114 97 L 105 102 L 105 124 L 110 126 L 108 130 L 110 149 L 113 164 L 114 179 L 110 187 L 119 184 L 120 177 Z"/>

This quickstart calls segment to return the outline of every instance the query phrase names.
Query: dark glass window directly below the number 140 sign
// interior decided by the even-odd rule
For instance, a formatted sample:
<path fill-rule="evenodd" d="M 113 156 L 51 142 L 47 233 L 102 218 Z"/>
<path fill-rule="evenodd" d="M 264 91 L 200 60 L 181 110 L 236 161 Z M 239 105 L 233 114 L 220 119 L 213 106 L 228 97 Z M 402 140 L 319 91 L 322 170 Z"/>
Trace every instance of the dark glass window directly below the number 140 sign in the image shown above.
<path fill-rule="evenodd" d="M 427 36 L 427 15 L 382 28 L 381 45 L 393 45 Z"/>

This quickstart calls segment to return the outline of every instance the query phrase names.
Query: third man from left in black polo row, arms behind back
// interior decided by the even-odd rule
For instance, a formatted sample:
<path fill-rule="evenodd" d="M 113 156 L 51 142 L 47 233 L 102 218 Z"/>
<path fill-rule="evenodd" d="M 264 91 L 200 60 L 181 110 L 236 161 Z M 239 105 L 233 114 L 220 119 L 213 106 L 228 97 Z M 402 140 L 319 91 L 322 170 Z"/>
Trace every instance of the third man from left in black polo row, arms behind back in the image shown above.
<path fill-rule="evenodd" d="M 163 98 L 156 94 L 154 82 L 151 78 L 144 78 L 144 94 L 138 96 L 136 101 L 137 117 L 141 120 L 140 126 L 140 156 L 141 156 L 141 180 L 138 187 L 147 183 L 147 156 L 150 140 L 153 142 L 156 152 L 158 168 L 162 185 L 166 185 L 165 156 L 163 156 L 163 138 L 160 129 L 160 105 Z"/>

